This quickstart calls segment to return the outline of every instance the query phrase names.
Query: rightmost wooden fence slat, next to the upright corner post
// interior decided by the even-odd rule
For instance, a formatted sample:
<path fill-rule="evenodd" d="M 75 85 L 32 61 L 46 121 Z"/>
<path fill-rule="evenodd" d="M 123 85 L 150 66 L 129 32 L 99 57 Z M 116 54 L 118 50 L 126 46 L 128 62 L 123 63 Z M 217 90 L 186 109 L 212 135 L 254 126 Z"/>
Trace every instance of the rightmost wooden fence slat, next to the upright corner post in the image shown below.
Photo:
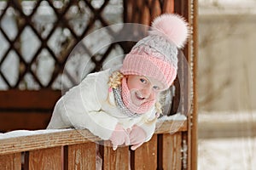
<path fill-rule="evenodd" d="M 163 134 L 163 169 L 176 170 L 182 167 L 182 133 Z"/>

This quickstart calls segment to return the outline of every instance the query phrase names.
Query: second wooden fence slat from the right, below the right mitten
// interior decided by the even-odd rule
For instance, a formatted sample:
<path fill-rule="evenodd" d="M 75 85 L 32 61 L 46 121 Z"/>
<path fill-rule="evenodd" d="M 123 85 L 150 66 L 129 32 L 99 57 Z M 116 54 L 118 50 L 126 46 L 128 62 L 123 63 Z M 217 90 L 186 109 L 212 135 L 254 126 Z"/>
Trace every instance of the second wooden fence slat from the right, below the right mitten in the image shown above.
<path fill-rule="evenodd" d="M 134 151 L 135 169 L 155 170 L 157 168 L 157 135 Z"/>

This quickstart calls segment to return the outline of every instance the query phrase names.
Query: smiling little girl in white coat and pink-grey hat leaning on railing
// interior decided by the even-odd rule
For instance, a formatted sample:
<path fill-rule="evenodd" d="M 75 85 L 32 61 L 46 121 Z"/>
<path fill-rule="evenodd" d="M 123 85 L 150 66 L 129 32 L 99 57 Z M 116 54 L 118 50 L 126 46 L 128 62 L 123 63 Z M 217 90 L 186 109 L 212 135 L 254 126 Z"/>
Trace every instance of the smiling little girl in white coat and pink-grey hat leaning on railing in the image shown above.
<path fill-rule="evenodd" d="M 91 73 L 59 99 L 48 128 L 86 128 L 110 140 L 113 150 L 123 144 L 136 150 L 154 134 L 160 93 L 177 76 L 177 50 L 188 35 L 183 18 L 160 15 L 119 71 Z"/>

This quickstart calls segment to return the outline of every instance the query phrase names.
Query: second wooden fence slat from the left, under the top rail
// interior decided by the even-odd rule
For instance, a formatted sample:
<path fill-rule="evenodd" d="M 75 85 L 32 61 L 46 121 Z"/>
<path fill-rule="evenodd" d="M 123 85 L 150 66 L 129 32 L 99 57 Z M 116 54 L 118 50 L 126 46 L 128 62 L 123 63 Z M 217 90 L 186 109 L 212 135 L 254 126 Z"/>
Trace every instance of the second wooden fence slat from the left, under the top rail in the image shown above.
<path fill-rule="evenodd" d="M 29 169 L 61 170 L 63 168 L 61 161 L 62 147 L 49 148 L 44 150 L 32 150 L 29 152 Z"/>

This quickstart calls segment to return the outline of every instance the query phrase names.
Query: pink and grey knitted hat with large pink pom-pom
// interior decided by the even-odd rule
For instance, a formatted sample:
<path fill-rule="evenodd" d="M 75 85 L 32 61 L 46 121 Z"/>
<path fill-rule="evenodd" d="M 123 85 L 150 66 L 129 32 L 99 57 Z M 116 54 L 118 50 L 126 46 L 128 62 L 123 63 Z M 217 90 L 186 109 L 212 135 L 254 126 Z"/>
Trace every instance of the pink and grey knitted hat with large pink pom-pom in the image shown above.
<path fill-rule="evenodd" d="M 125 56 L 124 75 L 152 77 L 169 88 L 177 76 L 177 50 L 189 35 L 188 23 L 177 14 L 162 14 L 152 23 L 148 36 Z"/>

